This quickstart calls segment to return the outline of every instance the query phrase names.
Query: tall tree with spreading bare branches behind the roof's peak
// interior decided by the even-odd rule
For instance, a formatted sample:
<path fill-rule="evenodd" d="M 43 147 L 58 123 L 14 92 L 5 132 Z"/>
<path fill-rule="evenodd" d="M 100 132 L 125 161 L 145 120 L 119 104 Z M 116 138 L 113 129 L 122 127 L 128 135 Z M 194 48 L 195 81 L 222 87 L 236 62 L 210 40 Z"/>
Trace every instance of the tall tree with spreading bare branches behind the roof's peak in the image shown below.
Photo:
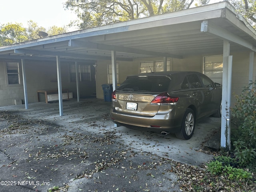
<path fill-rule="evenodd" d="M 209 4 L 210 0 L 67 0 L 65 8 L 73 10 L 78 20 L 70 26 L 80 29 L 128 21 Z M 229 0 L 239 14 L 253 26 L 256 23 L 255 0 Z"/>

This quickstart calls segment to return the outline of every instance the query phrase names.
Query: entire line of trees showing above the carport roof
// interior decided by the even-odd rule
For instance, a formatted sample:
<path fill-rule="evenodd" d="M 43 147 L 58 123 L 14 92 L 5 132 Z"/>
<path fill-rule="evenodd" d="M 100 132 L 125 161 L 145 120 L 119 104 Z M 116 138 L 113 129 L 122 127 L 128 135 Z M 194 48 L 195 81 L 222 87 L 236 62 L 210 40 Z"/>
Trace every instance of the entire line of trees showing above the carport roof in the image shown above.
<path fill-rule="evenodd" d="M 256 0 L 228 1 L 256 28 Z M 73 10 L 78 18 L 69 26 L 86 29 L 184 10 L 192 4 L 203 6 L 209 3 L 210 0 L 66 0 L 64 7 Z M 38 39 L 39 31 L 52 36 L 67 32 L 67 27 L 51 26 L 46 29 L 32 20 L 28 21 L 26 28 L 21 23 L 0 24 L 0 46 Z"/>

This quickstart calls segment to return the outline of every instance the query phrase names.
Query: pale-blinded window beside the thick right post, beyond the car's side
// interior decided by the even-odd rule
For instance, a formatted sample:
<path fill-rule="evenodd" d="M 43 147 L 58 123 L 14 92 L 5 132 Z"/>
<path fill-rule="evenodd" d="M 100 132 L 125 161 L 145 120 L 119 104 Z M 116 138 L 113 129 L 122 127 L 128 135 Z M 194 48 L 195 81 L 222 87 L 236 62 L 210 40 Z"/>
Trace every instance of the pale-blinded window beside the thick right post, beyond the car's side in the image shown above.
<path fill-rule="evenodd" d="M 222 84 L 223 56 L 204 56 L 204 74 Z"/>

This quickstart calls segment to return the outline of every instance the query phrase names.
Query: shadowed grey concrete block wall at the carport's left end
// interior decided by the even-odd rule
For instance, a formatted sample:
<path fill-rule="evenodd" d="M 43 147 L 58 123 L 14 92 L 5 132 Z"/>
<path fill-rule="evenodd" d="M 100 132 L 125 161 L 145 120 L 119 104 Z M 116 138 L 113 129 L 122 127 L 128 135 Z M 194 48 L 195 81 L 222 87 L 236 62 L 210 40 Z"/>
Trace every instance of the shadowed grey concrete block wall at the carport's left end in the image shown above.
<path fill-rule="evenodd" d="M 21 99 L 24 104 L 24 88 L 22 74 L 21 84 L 6 85 L 5 63 L 0 62 L 0 107 L 14 105 L 15 100 Z M 91 64 L 92 65 L 92 64 Z M 58 90 L 56 62 L 25 60 L 28 103 L 38 102 L 37 90 Z M 20 70 L 21 72 L 21 70 Z M 61 63 L 62 88 L 73 92 L 76 98 L 76 82 L 70 82 L 68 63 Z M 95 69 L 91 66 L 91 82 L 80 82 L 80 97 L 86 97 L 95 92 Z"/>

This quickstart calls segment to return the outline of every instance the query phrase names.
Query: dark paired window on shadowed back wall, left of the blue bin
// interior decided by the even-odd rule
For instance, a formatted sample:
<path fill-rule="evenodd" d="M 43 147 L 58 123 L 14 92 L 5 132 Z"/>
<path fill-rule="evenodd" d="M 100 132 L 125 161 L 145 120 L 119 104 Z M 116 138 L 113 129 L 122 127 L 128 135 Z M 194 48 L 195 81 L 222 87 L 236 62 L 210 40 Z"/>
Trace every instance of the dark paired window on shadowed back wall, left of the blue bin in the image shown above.
<path fill-rule="evenodd" d="M 82 81 L 91 81 L 91 66 L 78 64 L 78 79 Z M 76 82 L 76 65 L 70 65 L 70 82 Z"/>

